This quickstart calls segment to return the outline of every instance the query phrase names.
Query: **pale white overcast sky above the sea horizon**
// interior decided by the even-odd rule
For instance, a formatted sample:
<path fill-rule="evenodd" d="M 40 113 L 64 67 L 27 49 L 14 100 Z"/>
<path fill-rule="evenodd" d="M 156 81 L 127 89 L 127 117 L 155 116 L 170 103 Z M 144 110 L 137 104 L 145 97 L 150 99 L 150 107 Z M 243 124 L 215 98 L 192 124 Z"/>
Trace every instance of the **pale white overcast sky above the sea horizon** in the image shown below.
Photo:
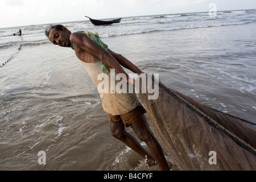
<path fill-rule="evenodd" d="M 256 9 L 256 0 L 0 0 L 0 28 L 128 16 Z"/>

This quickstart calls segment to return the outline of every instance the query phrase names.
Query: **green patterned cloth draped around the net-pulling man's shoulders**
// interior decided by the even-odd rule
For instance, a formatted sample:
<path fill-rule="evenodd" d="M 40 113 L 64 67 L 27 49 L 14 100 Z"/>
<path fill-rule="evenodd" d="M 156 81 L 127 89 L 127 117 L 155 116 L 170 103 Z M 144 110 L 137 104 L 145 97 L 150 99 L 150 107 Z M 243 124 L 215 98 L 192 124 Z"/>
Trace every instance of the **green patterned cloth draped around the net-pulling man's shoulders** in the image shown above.
<path fill-rule="evenodd" d="M 90 40 L 92 40 L 94 43 L 96 43 L 98 47 L 104 49 L 105 51 L 108 51 L 108 45 L 101 41 L 100 36 L 98 36 L 97 33 L 93 34 L 92 32 L 89 32 L 89 31 L 77 31 L 76 33 L 86 34 L 86 36 Z M 74 48 L 72 43 L 71 43 L 70 47 L 73 50 L 75 50 L 75 48 Z M 110 68 L 108 66 L 106 66 L 104 63 L 102 63 L 102 61 L 101 61 L 101 68 L 102 68 L 102 72 L 103 73 L 107 73 L 108 74 Z"/>

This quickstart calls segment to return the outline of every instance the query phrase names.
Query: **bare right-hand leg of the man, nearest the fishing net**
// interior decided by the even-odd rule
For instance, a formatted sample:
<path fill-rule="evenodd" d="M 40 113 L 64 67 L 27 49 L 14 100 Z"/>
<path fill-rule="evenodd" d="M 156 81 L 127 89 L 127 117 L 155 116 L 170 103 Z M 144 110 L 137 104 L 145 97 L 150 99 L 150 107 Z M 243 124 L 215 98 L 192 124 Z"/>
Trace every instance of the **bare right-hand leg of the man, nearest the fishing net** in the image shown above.
<path fill-rule="evenodd" d="M 134 121 L 131 124 L 131 127 L 137 134 L 138 138 L 147 144 L 152 156 L 158 163 L 159 168 L 163 171 L 170 171 L 166 158 L 164 157 L 163 150 L 154 137 L 154 134 L 152 134 L 144 114 L 142 114 L 141 117 Z"/>

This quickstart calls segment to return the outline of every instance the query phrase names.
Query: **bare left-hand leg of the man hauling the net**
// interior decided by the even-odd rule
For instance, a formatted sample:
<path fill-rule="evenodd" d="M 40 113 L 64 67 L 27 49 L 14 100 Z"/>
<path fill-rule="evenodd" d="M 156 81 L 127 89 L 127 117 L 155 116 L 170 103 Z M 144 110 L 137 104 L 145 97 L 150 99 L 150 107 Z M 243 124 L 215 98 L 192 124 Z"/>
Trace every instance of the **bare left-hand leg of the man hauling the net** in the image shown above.
<path fill-rule="evenodd" d="M 144 147 L 141 146 L 138 140 L 125 131 L 125 125 L 123 125 L 122 120 L 118 122 L 110 122 L 110 130 L 113 137 L 121 140 L 144 159 L 147 159 L 147 164 L 155 163 L 155 159 Z"/>

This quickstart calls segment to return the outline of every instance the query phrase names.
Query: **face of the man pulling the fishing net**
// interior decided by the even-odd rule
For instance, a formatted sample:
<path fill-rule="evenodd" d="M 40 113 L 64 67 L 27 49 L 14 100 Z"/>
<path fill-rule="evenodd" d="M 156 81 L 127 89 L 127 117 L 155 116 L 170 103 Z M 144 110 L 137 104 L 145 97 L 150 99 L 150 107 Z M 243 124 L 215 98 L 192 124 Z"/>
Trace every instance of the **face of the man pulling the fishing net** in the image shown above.
<path fill-rule="evenodd" d="M 68 29 L 65 27 L 63 27 L 63 31 L 52 28 L 49 32 L 49 40 L 55 45 L 61 47 L 70 47 L 70 34 L 71 32 L 69 32 Z"/>

